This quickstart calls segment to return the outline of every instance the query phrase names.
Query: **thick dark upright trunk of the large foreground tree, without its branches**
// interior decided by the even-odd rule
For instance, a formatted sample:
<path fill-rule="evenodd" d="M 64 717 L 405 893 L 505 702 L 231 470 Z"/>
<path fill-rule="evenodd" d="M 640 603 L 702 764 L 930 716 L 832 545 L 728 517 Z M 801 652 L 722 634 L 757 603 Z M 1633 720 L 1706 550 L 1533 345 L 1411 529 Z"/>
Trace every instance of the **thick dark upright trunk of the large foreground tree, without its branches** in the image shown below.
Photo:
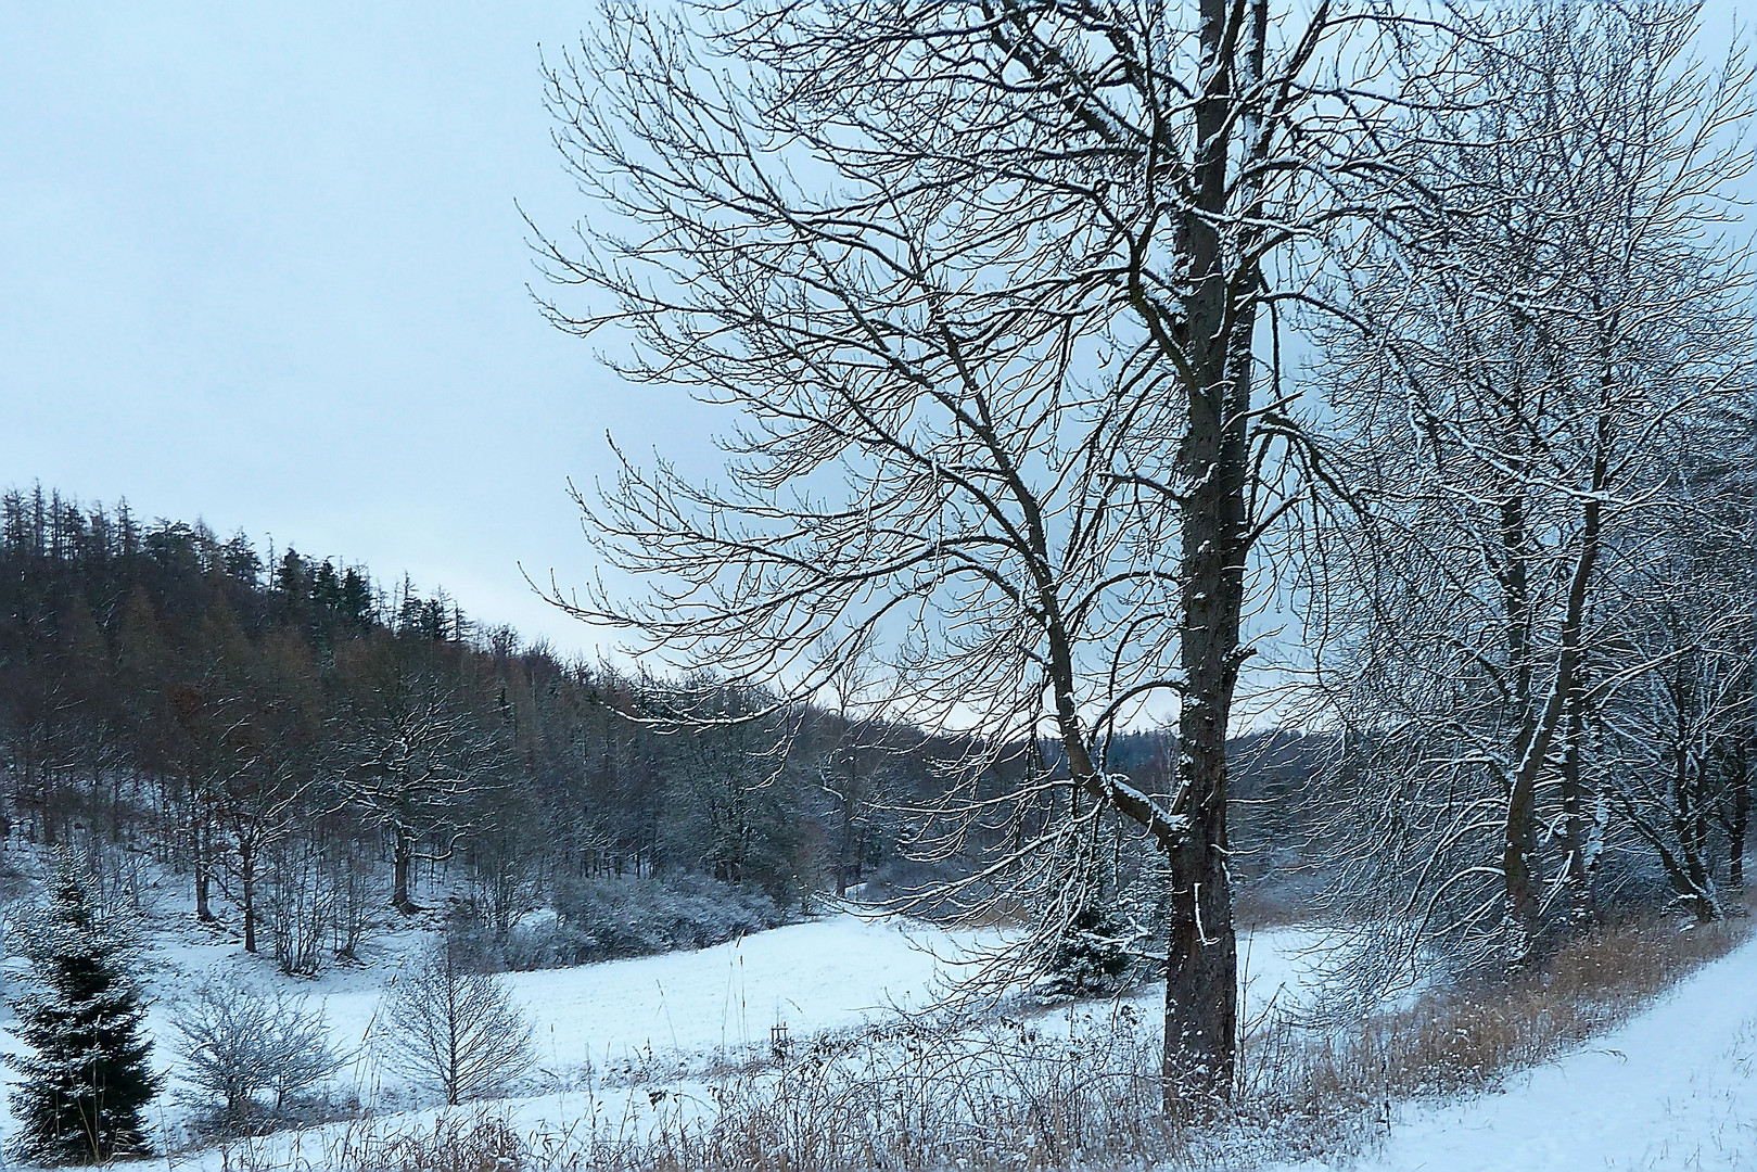
<path fill-rule="evenodd" d="M 1232 288 L 1214 221 L 1205 209 L 1228 204 L 1228 123 L 1239 112 L 1232 93 L 1263 72 L 1267 4 L 1246 18 L 1251 47 L 1230 58 L 1226 0 L 1202 0 L 1202 58 L 1209 84 L 1197 102 L 1197 204 L 1182 234 L 1197 278 L 1175 327 L 1177 348 L 1189 355 L 1184 380 L 1188 422 L 1177 473 L 1191 485 L 1181 508 L 1179 564 L 1182 619 L 1179 659 L 1182 696 L 1177 713 L 1177 798 L 1186 833 L 1168 850 L 1170 924 L 1165 970 L 1165 1102 L 1232 1095 L 1239 1031 L 1239 944 L 1232 926 L 1226 873 L 1226 726 L 1239 684 L 1239 626 L 1244 608 L 1244 559 L 1249 550 L 1246 481 L 1251 409 L 1251 344 L 1260 278 L 1247 265 L 1246 288 Z M 1251 135 L 1246 118 L 1240 134 Z M 1247 213 L 1262 213 L 1253 200 Z"/>

